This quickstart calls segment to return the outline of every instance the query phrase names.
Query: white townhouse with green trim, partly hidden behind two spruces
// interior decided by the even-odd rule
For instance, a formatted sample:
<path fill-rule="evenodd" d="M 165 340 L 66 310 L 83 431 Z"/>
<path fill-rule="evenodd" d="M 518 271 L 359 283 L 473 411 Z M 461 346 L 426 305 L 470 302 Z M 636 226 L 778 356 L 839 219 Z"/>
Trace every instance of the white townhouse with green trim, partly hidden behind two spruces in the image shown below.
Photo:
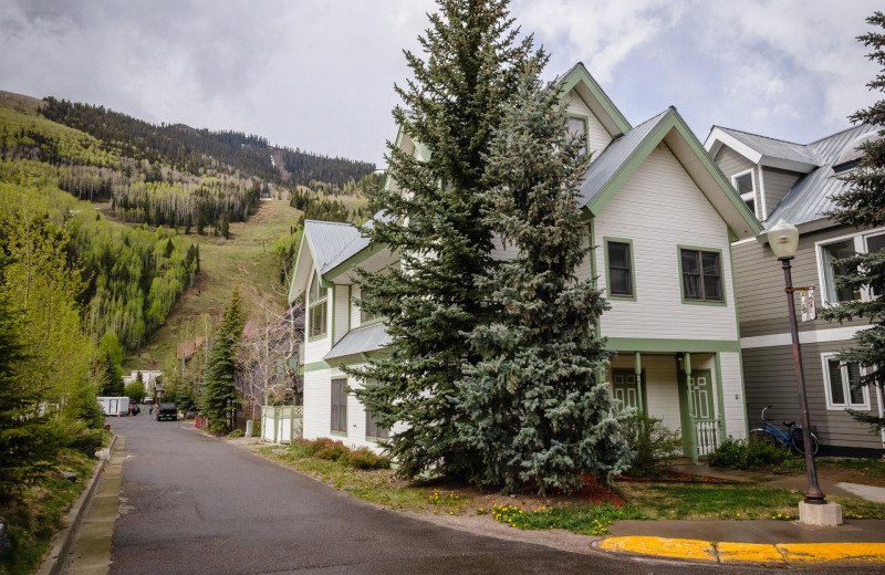
<path fill-rule="evenodd" d="M 632 126 L 583 64 L 560 82 L 570 129 L 593 154 L 579 202 L 595 249 L 579 275 L 596 278 L 612 306 L 597 326 L 617 351 L 612 394 L 680 430 L 687 456 L 705 456 L 747 436 L 731 242 L 761 226 L 676 108 Z M 397 145 L 428 157 L 402 130 Z M 346 394 L 361 383 L 340 369 L 389 343 L 384 318 L 354 304 L 357 264 L 398 259 L 353 226 L 308 221 L 289 299 L 308 309 L 304 437 L 375 447 L 388 431 Z"/>

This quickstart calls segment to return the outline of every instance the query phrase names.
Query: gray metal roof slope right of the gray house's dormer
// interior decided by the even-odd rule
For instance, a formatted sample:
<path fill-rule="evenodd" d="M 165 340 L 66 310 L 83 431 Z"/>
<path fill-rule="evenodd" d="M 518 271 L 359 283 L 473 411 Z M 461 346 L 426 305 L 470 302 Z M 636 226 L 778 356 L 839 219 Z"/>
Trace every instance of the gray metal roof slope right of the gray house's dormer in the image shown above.
<path fill-rule="evenodd" d="M 790 192 L 778 203 L 778 207 L 768 217 L 768 227 L 773 226 L 779 219 L 795 226 L 821 219 L 823 213 L 834 208 L 831 196 L 841 194 L 847 184 L 842 181 L 833 166 L 855 140 L 872 132 L 868 125 L 854 126 L 832 136 L 812 142 L 809 148 L 820 158 L 820 167 L 811 174 L 802 176 L 790 189 Z"/>

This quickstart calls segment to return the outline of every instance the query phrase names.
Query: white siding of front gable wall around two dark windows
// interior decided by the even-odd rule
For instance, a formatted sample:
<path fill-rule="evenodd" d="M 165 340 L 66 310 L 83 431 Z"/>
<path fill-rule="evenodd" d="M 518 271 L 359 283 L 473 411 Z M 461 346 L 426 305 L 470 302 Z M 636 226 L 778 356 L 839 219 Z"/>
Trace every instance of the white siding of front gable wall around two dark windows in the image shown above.
<path fill-rule="evenodd" d="M 636 301 L 612 301 L 602 316 L 610 337 L 738 338 L 728 229 L 702 192 L 664 146 L 615 194 L 595 220 L 596 271 L 605 286 L 603 238 L 633 240 Z M 681 303 L 677 245 L 722 252 L 725 306 Z"/>

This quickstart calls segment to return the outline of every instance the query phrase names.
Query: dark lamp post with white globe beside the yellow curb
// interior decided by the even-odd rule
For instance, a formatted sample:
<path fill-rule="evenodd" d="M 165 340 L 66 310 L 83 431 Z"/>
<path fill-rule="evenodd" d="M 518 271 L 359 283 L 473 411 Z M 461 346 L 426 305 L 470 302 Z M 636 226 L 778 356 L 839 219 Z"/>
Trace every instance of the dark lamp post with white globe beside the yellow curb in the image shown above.
<path fill-rule="evenodd" d="M 799 230 L 792 223 L 781 219 L 768 232 L 768 242 L 771 251 L 783 264 L 783 280 L 785 282 L 787 306 L 790 311 L 790 333 L 793 336 L 793 363 L 795 364 L 796 387 L 799 389 L 799 407 L 801 411 L 802 442 L 805 447 L 805 469 L 809 475 L 809 487 L 805 490 L 805 503 L 825 504 L 826 499 L 818 487 L 818 469 L 814 467 L 814 454 L 811 450 L 811 424 L 809 421 L 809 401 L 805 396 L 805 376 L 802 372 L 802 351 L 799 347 L 799 327 L 795 321 L 795 301 L 793 300 L 793 279 L 790 273 L 790 260 L 795 257 L 799 248 Z"/>

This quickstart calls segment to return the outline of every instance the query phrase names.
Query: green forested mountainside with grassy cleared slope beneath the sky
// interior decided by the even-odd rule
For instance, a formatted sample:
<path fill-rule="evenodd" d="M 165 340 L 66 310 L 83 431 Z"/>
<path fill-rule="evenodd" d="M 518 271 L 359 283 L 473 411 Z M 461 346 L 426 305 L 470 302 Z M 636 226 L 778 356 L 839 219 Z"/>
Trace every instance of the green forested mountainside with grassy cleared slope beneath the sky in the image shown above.
<path fill-rule="evenodd" d="M 208 334 L 235 286 L 247 314 L 260 300 L 284 305 L 277 284 L 304 217 L 367 219 L 365 191 L 382 181 L 373 169 L 0 92 L 0 217 L 63 230 L 84 333 L 93 343 L 113 334 L 127 367 L 159 367 L 178 343 Z M 0 231 L 6 253 L 11 234 Z"/>

